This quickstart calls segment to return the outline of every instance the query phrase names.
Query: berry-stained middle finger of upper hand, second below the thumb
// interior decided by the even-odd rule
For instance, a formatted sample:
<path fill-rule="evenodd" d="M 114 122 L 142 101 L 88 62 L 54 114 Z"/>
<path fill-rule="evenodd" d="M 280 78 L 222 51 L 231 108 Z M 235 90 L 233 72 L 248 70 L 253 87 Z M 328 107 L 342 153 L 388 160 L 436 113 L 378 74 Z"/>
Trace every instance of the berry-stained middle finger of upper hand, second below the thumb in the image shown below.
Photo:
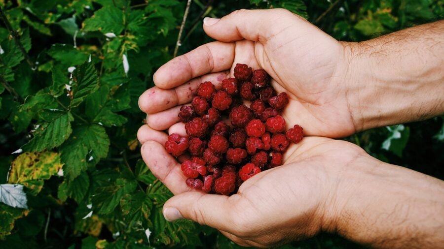
<path fill-rule="evenodd" d="M 196 77 L 173 89 L 152 87 L 139 97 L 139 108 L 143 112 L 151 114 L 172 108 L 176 105 L 189 103 L 200 83 L 211 81 L 216 86 L 216 89 L 220 89 L 222 80 L 228 78 L 228 75 L 229 71 L 226 70 Z"/>

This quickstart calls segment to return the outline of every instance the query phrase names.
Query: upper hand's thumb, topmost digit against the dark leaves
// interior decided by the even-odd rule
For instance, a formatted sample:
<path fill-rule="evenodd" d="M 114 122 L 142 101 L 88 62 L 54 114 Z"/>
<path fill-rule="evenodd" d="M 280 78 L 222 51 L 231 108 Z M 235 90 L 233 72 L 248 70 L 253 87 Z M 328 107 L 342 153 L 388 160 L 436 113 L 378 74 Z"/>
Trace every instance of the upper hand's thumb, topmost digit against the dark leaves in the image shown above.
<path fill-rule="evenodd" d="M 295 20 L 302 22 L 303 18 L 286 9 L 239 9 L 221 19 L 206 17 L 203 28 L 209 36 L 223 42 L 241 39 L 262 42 L 287 29 Z"/>

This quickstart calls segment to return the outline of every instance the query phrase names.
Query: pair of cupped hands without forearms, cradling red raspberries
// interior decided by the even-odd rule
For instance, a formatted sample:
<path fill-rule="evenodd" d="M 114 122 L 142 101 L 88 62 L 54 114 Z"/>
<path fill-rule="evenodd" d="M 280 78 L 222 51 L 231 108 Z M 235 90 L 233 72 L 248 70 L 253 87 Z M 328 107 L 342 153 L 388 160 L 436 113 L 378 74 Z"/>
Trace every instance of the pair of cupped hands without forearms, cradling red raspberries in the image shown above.
<path fill-rule="evenodd" d="M 359 223 L 348 211 L 363 205 L 362 194 L 377 187 L 377 172 L 386 166 L 355 144 L 334 140 L 370 128 L 351 103 L 356 96 L 350 86 L 359 78 L 353 70 L 354 45 L 282 9 L 238 10 L 222 19 L 206 18 L 203 28 L 217 41 L 161 66 L 155 86 L 139 99 L 148 114 L 148 124 L 138 131 L 143 159 L 175 195 L 164 205 L 165 218 L 191 219 L 241 246 L 255 247 L 321 231 L 345 232 L 344 220 Z M 255 175 L 236 194 L 191 190 L 180 161 L 165 151 L 165 130 L 186 135 L 180 107 L 191 102 L 201 82 L 220 89 L 222 79 L 233 77 L 236 63 L 263 68 L 277 93 L 288 93 L 284 119 L 288 127 L 301 125 L 305 137 L 291 144 L 284 165 Z"/>

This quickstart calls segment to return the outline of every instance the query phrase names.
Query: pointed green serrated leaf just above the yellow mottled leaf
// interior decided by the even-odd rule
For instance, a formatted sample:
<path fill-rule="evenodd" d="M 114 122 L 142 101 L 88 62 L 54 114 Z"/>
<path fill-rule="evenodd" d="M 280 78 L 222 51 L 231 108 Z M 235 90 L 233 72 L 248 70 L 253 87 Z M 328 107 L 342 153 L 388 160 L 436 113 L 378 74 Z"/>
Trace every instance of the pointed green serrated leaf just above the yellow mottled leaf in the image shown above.
<path fill-rule="evenodd" d="M 35 136 L 22 149 L 40 152 L 61 145 L 73 131 L 71 129 L 71 121 L 73 120 L 71 113 L 64 113 L 49 123 L 38 125 Z"/>

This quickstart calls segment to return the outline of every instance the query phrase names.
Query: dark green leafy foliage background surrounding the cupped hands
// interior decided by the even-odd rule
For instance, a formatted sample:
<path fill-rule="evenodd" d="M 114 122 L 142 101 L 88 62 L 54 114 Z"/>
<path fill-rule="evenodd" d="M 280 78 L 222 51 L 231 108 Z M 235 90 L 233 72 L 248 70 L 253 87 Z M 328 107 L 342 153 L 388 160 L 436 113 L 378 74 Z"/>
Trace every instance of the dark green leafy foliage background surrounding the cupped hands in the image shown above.
<path fill-rule="evenodd" d="M 209 227 L 166 222 L 161 208 L 171 193 L 140 160 L 136 131 L 145 116 L 138 96 L 153 85 L 155 69 L 172 58 L 186 1 L 0 5 L 29 55 L 27 60 L 1 22 L 0 184 L 23 185 L 28 209 L 0 203 L 0 248 L 236 248 Z M 211 41 L 202 30 L 204 16 L 275 7 L 345 41 L 444 13 L 440 0 L 192 0 L 179 54 Z M 383 161 L 444 179 L 442 117 L 345 139 Z M 22 154 L 11 154 L 19 148 Z M 356 247 L 320 234 L 282 248 Z"/>

